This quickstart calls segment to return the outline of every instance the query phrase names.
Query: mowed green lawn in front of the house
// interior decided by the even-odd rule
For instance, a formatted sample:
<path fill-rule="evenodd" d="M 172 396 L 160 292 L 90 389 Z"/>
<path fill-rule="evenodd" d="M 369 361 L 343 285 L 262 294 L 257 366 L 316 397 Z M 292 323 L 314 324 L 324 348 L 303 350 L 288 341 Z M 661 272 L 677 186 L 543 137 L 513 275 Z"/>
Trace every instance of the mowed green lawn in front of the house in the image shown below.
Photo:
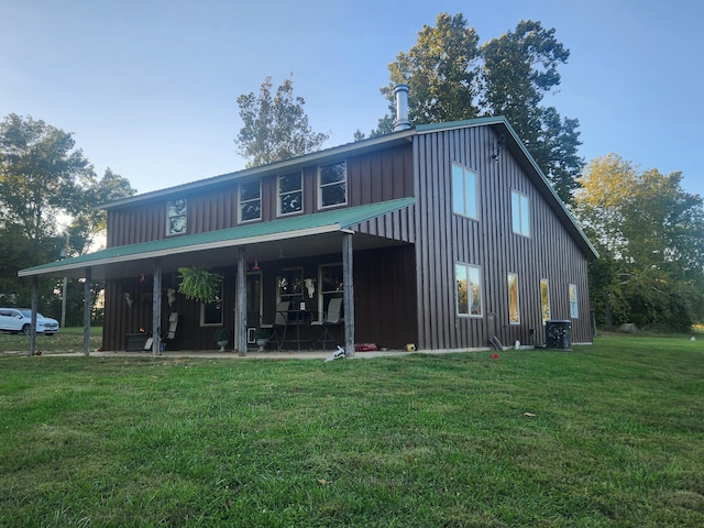
<path fill-rule="evenodd" d="M 491 355 L 1 358 L 0 526 L 704 526 L 704 340 Z"/>

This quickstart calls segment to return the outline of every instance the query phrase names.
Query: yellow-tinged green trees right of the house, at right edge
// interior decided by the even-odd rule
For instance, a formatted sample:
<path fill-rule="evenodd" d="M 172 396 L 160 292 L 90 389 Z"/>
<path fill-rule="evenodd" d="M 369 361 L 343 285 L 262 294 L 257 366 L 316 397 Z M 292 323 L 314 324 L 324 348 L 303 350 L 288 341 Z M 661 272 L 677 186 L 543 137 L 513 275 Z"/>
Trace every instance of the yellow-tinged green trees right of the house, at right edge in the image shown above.
<path fill-rule="evenodd" d="M 590 268 L 601 322 L 686 331 L 704 318 L 704 202 L 681 182 L 615 154 L 587 165 L 574 211 L 601 254 Z"/>

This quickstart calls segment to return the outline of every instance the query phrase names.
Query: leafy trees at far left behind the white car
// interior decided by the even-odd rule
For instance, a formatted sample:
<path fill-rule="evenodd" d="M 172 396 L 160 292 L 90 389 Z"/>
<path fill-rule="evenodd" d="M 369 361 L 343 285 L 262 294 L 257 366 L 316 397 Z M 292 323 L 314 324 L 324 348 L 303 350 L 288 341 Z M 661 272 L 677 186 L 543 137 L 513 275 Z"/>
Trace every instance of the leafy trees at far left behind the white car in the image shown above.
<path fill-rule="evenodd" d="M 30 306 L 31 284 L 18 271 L 86 253 L 106 228 L 106 213 L 96 206 L 134 193 L 110 168 L 98 178 L 73 134 L 31 117 L 6 117 L 0 123 L 0 305 Z M 56 318 L 62 283 L 40 280 L 40 309 Z M 98 283 L 91 287 L 94 294 L 101 289 Z M 66 293 L 66 324 L 80 326 L 82 285 L 70 279 Z M 94 314 L 100 317 L 99 310 Z"/>

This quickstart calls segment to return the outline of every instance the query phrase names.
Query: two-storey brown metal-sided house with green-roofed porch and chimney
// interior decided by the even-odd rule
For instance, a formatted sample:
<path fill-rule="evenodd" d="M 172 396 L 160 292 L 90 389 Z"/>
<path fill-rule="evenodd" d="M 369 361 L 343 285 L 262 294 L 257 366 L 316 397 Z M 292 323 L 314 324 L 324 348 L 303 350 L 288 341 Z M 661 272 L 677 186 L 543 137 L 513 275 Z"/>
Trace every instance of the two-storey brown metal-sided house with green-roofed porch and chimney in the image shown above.
<path fill-rule="evenodd" d="M 107 249 L 20 276 L 105 280 L 106 350 L 156 329 L 157 351 L 176 319 L 167 350 L 212 350 L 226 328 L 244 353 L 280 302 L 322 319 L 334 298 L 349 355 L 540 345 L 550 319 L 591 342 L 598 255 L 514 129 L 413 128 L 406 89 L 394 133 L 109 204 Z M 178 294 L 178 268 L 199 264 L 223 277 L 215 302 Z"/>

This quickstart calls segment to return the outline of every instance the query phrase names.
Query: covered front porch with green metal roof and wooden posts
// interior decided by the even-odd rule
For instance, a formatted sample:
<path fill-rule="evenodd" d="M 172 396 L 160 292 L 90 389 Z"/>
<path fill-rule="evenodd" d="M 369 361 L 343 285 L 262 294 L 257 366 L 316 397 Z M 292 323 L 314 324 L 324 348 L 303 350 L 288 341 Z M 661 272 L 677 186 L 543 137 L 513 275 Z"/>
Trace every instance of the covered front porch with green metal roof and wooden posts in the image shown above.
<path fill-rule="evenodd" d="M 415 262 L 399 264 L 408 257 L 414 260 L 410 238 L 403 233 L 389 238 L 388 233 L 370 229 L 370 226 L 383 226 L 386 216 L 414 202 L 413 198 L 406 198 L 109 248 L 23 270 L 20 276 L 78 277 L 85 278 L 87 285 L 90 280 L 103 280 L 103 348 L 125 350 L 128 337 L 142 331 L 153 337 L 150 342 L 152 354 L 161 353 L 164 340 L 166 350 L 173 346 L 211 350 L 215 348 L 213 333 L 224 329 L 232 336 L 232 348 L 244 355 L 248 348 L 254 346 L 256 329 L 276 322 L 280 302 L 288 301 L 292 309 L 305 305 L 305 316 L 298 317 L 305 317 L 310 323 L 324 320 L 330 300 L 337 298 L 343 322 L 331 328 L 337 333 L 333 342 L 326 346 L 334 349 L 339 344 L 346 356 L 352 358 L 359 338 L 355 315 L 360 314 L 360 307 L 355 309 L 355 299 L 364 305 L 378 305 L 380 292 L 376 295 L 367 292 L 378 290 L 382 286 L 389 288 L 381 292 L 382 297 L 392 300 L 393 288 L 400 284 L 402 288 L 408 289 L 410 277 L 404 273 L 415 273 Z M 381 261 L 393 263 L 396 271 L 406 268 L 407 272 L 396 279 L 381 277 L 374 271 Z M 198 304 L 177 293 L 178 268 L 204 264 L 223 276 L 217 306 Z M 363 285 L 356 295 L 355 280 Z M 88 286 L 86 289 L 89 292 Z M 393 304 L 414 311 L 414 302 L 405 294 L 402 296 L 404 299 Z M 86 320 L 89 321 L 89 304 L 86 306 Z M 376 309 L 383 311 L 383 307 L 376 306 Z M 36 311 L 36 307 L 33 310 Z M 367 311 L 369 307 L 362 308 L 365 318 Z M 174 319 L 177 321 L 175 334 L 169 336 Z M 402 324 L 406 327 L 407 322 Z M 362 334 L 373 338 L 373 329 L 367 328 L 370 323 L 364 322 L 363 327 Z M 287 332 L 301 330 L 286 329 Z M 89 331 L 86 323 L 86 336 Z M 322 331 L 322 324 L 307 326 L 304 332 L 305 337 L 311 337 L 310 342 L 298 339 L 295 348 L 308 350 L 315 343 L 312 338 Z M 85 342 L 88 343 L 87 338 Z M 277 349 L 293 345 L 277 343 Z M 87 344 L 84 353 L 89 353 Z"/>

